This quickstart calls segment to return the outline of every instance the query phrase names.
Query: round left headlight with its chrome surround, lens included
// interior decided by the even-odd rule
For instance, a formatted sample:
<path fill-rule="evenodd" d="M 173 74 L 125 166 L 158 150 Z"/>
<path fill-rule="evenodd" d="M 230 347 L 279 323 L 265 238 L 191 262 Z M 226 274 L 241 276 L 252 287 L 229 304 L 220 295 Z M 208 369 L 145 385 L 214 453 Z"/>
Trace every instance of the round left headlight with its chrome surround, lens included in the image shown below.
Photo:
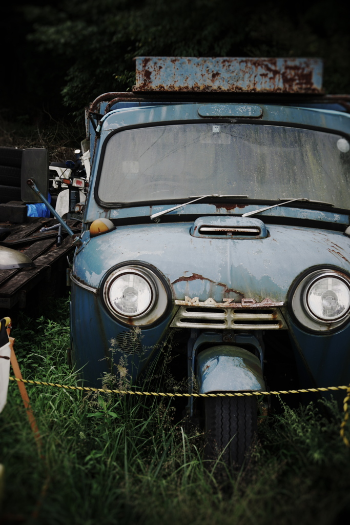
<path fill-rule="evenodd" d="M 171 294 L 163 276 L 145 263 L 123 264 L 102 282 L 102 298 L 124 324 L 149 326 L 163 316 Z"/>

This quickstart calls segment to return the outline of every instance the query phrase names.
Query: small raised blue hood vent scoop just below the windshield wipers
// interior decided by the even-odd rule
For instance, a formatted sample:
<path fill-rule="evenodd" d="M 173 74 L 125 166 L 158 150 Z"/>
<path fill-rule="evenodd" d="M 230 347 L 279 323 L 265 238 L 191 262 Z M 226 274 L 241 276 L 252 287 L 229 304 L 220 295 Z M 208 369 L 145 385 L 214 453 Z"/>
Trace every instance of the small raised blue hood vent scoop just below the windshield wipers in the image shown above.
<path fill-rule="evenodd" d="M 210 239 L 264 239 L 266 226 L 249 217 L 199 217 L 190 230 L 193 237 Z"/>

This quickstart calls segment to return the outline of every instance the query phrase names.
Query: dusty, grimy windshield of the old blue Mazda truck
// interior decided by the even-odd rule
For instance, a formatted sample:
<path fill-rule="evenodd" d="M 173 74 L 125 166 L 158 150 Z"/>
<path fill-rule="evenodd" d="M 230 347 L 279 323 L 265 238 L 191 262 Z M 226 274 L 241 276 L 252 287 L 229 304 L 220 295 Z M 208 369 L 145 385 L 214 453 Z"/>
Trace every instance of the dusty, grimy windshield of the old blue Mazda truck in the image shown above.
<path fill-rule="evenodd" d="M 115 133 L 98 196 L 105 203 L 193 195 L 305 197 L 350 208 L 350 144 L 323 131 L 259 124 L 175 124 Z"/>

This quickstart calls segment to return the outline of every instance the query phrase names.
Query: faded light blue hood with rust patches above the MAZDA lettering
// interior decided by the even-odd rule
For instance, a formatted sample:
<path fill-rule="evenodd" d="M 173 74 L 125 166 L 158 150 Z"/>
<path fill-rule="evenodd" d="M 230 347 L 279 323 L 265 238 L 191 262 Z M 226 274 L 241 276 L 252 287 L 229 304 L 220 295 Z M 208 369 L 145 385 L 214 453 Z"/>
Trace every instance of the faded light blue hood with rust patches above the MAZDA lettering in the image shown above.
<path fill-rule="evenodd" d="M 203 224 L 203 218 L 200 220 Z M 196 236 L 194 231 L 194 223 L 159 223 L 118 226 L 91 239 L 87 232 L 75 257 L 73 275 L 99 288 L 115 265 L 144 261 L 162 272 L 174 299 L 241 302 L 252 298 L 261 302 L 266 298 L 285 301 L 291 283 L 307 268 L 334 265 L 350 270 L 350 239 L 340 232 L 267 225 L 266 234 L 260 237 L 235 238 L 220 237 L 217 232 Z"/>

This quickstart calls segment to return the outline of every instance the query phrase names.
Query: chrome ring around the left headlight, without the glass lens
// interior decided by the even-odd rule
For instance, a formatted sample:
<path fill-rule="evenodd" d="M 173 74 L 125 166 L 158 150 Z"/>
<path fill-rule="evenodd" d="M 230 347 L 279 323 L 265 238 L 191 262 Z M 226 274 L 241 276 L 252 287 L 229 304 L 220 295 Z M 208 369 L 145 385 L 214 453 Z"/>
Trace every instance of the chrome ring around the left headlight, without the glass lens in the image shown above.
<path fill-rule="evenodd" d="M 147 308 L 137 314 L 123 314 L 113 304 L 110 291 L 116 279 L 123 275 L 133 274 L 141 277 L 151 290 L 151 299 Z M 151 265 L 141 262 L 124 262 L 111 268 L 101 282 L 101 299 L 111 316 L 123 325 L 149 328 L 166 313 L 171 304 L 171 292 L 165 278 Z"/>

